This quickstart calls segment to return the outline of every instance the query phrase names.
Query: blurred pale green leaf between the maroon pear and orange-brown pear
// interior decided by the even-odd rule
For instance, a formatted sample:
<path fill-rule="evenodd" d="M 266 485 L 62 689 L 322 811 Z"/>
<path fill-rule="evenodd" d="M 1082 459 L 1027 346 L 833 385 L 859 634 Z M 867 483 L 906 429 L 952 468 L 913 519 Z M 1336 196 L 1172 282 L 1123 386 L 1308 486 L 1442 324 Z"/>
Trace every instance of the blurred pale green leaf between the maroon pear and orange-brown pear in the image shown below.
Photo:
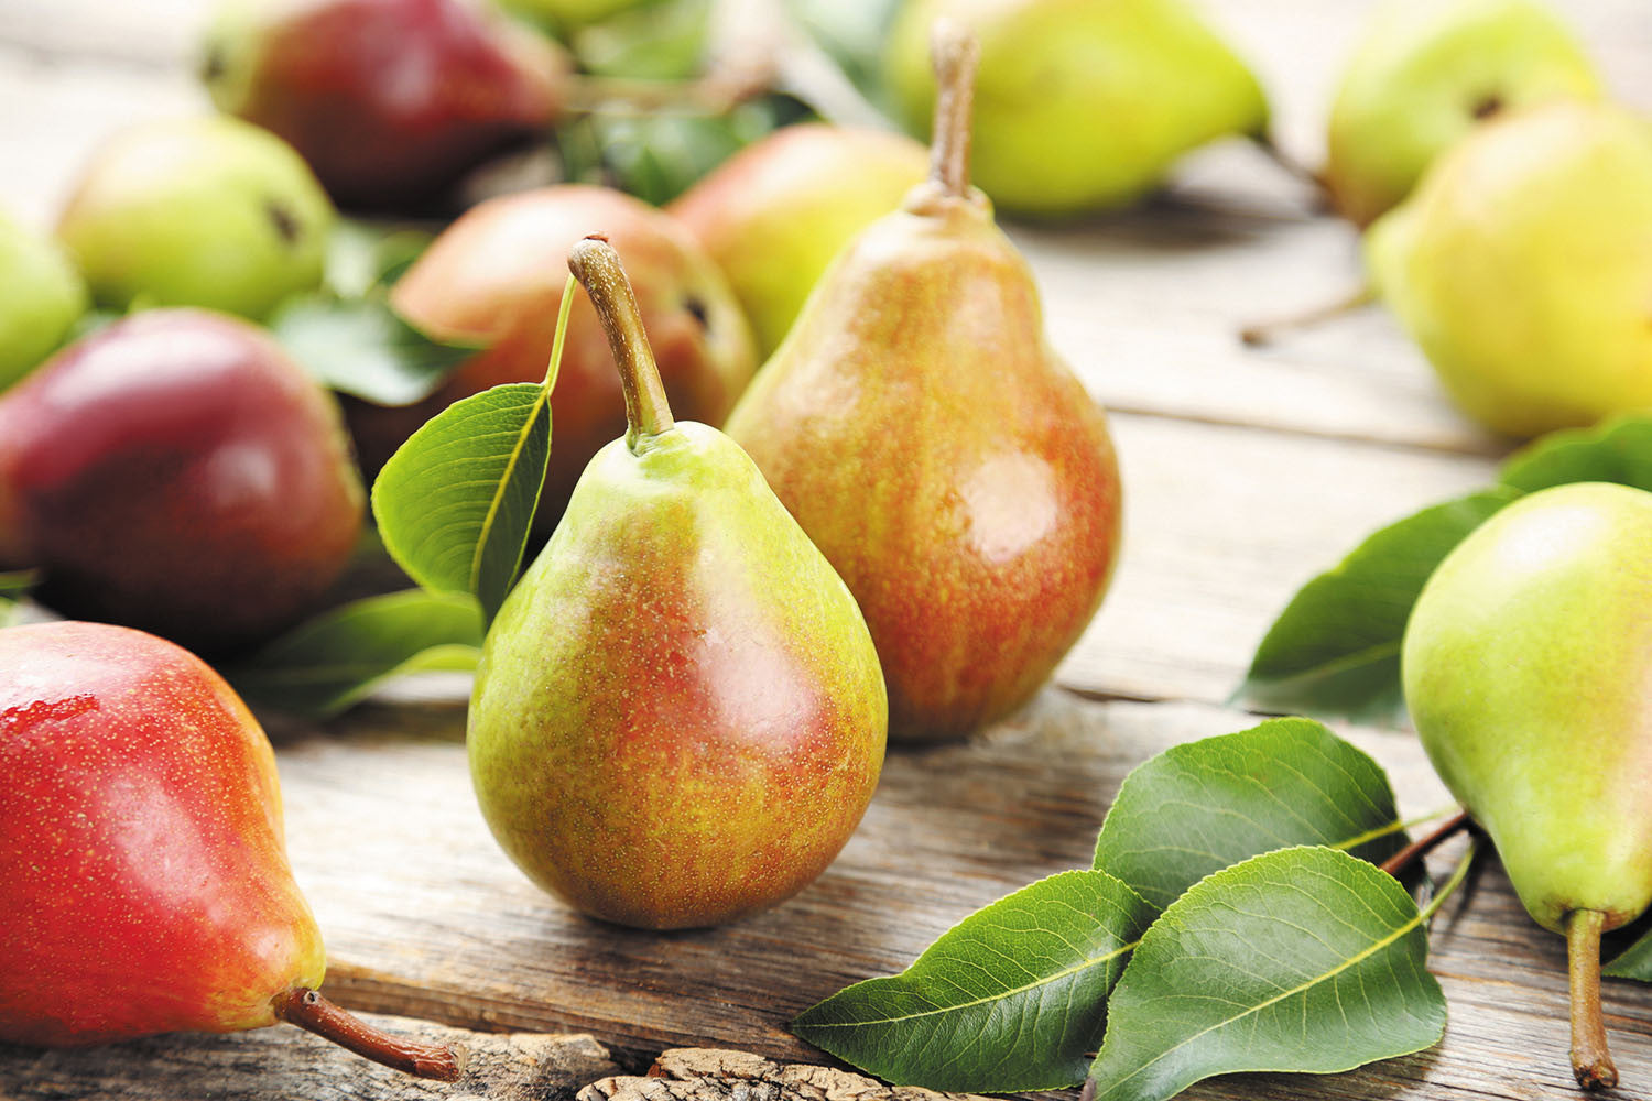
<path fill-rule="evenodd" d="M 382 297 L 297 295 L 282 302 L 269 327 L 324 386 L 383 406 L 423 401 L 476 352 L 431 340 Z"/>

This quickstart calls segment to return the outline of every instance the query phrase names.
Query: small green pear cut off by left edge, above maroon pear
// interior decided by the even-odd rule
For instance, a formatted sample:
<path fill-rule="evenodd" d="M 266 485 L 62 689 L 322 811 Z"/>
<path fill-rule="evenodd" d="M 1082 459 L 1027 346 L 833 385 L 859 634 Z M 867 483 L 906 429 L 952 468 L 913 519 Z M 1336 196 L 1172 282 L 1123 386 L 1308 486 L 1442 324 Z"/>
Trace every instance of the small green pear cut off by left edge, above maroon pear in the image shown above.
<path fill-rule="evenodd" d="M 86 312 L 86 284 L 55 241 L 0 213 L 0 390 L 40 365 Z"/>

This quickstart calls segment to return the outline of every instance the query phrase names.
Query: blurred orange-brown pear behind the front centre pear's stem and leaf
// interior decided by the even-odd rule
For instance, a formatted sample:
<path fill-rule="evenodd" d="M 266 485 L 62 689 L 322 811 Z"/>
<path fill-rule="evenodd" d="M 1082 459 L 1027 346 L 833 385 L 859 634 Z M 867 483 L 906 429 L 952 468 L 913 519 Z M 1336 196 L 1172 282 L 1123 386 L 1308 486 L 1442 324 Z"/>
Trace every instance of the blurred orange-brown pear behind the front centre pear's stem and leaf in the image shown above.
<path fill-rule="evenodd" d="M 459 398 L 545 376 L 568 249 L 598 229 L 626 258 L 672 408 L 682 418 L 722 424 L 757 370 L 752 333 L 729 281 L 667 215 L 620 191 L 563 185 L 474 206 L 396 282 L 392 302 L 403 317 L 438 338 L 482 350 L 418 404 L 345 403 L 368 472 Z M 583 295 L 568 315 L 552 409 L 557 442 L 539 513 L 545 532 L 585 464 L 624 431 L 620 375 Z"/>

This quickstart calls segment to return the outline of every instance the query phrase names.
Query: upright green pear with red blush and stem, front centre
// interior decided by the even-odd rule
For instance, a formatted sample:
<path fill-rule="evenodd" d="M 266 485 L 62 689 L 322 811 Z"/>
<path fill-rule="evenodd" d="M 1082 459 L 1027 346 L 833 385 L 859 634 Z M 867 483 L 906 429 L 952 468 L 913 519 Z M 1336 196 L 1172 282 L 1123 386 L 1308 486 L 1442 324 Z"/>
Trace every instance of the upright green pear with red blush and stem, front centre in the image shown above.
<path fill-rule="evenodd" d="M 471 776 L 512 860 L 583 913 L 676 929 L 791 896 L 854 832 L 887 700 L 849 589 L 727 436 L 672 421 L 615 251 L 575 246 L 624 380 L 487 632 Z"/>

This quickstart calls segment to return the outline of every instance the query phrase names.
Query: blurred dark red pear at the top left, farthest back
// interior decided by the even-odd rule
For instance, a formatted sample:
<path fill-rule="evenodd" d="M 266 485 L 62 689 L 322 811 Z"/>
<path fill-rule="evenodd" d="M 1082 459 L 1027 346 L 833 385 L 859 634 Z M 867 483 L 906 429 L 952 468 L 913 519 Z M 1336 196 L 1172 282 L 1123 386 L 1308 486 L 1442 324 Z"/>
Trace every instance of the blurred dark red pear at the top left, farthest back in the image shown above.
<path fill-rule="evenodd" d="M 291 142 L 352 208 L 430 205 L 545 130 L 570 64 L 463 0 L 230 0 L 208 31 L 213 102 Z"/>

